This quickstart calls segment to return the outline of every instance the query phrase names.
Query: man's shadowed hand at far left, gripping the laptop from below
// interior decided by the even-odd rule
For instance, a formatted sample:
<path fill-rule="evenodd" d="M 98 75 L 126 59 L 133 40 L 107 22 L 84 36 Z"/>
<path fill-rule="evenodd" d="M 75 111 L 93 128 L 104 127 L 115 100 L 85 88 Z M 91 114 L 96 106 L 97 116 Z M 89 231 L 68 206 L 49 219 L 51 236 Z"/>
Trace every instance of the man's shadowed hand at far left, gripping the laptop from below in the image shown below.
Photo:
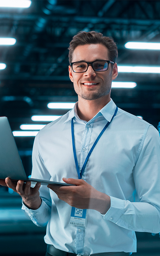
<path fill-rule="evenodd" d="M 39 188 L 41 183 L 36 183 L 34 188 L 31 188 L 31 182 L 27 181 L 26 184 L 23 180 L 18 180 L 17 183 L 13 183 L 9 178 L 0 180 L 0 185 L 12 188 L 23 199 L 23 203 L 32 210 L 36 210 L 41 205 L 41 198 L 39 196 Z"/>

